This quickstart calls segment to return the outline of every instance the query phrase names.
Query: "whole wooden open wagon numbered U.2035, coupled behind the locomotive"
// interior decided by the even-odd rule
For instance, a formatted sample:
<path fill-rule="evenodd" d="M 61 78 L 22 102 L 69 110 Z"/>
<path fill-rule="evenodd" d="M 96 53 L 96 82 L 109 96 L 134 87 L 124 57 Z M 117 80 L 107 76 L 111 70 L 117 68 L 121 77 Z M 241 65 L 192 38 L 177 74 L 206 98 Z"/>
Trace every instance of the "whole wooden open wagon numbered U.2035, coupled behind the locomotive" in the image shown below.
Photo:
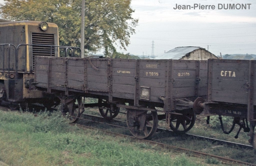
<path fill-rule="evenodd" d="M 155 133 L 158 119 L 176 132 L 190 130 L 192 101 L 207 93 L 206 61 L 36 57 L 35 75 L 34 85 L 56 94 L 72 122 L 85 107 L 99 107 L 107 119 L 124 107 L 127 125 L 140 139 Z M 86 104 L 86 97 L 98 103 Z"/>

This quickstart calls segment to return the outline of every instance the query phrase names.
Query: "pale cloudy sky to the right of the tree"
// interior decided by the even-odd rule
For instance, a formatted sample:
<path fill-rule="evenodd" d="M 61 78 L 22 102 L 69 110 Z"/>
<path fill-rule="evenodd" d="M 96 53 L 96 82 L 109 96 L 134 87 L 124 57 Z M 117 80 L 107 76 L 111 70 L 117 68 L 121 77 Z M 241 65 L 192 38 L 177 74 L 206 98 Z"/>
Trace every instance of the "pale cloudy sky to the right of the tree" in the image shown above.
<path fill-rule="evenodd" d="M 174 9 L 196 4 L 195 9 Z M 223 8 L 232 4 L 237 9 Z M 246 9 L 239 9 L 242 4 Z M 203 5 L 215 8 L 199 9 Z M 256 0 L 131 0 L 131 8 L 138 26 L 126 50 L 116 47 L 120 53 L 157 56 L 175 47 L 194 46 L 217 56 L 256 54 Z"/>

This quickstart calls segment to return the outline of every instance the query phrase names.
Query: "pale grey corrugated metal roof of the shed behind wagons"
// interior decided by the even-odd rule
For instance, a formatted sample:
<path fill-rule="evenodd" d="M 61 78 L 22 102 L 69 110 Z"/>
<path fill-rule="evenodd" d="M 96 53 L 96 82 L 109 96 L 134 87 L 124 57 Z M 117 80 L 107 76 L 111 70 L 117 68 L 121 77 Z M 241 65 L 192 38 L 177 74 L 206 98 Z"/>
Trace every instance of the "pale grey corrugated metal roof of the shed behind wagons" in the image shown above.
<path fill-rule="evenodd" d="M 158 55 L 155 59 L 180 59 L 184 57 L 187 53 L 190 53 L 200 48 L 202 47 L 176 47 L 175 49 Z"/>

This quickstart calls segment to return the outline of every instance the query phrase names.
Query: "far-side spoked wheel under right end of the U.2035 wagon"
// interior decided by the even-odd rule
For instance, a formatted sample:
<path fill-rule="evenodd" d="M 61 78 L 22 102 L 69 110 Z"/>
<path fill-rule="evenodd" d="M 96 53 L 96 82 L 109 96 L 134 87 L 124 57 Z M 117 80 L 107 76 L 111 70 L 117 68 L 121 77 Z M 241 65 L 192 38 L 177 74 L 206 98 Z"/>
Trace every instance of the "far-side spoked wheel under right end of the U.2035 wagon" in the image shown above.
<path fill-rule="evenodd" d="M 170 118 L 170 128 L 175 133 L 186 133 L 195 124 L 196 114 L 191 110 L 182 110 L 178 113 L 183 115 L 172 114 Z"/>

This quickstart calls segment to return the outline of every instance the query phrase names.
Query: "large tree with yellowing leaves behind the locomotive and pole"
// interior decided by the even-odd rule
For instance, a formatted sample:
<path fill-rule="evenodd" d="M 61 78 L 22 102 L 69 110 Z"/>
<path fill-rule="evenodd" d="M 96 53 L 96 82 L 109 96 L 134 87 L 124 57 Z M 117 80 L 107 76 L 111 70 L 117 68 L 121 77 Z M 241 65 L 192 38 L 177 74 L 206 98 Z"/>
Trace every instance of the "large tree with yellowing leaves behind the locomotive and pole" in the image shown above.
<path fill-rule="evenodd" d="M 0 5 L 6 20 L 48 21 L 59 26 L 60 45 L 80 47 L 81 0 L 4 0 Z M 131 0 L 86 0 L 86 52 L 104 49 L 106 55 L 119 45 L 126 50 L 138 20 L 132 18 Z"/>

